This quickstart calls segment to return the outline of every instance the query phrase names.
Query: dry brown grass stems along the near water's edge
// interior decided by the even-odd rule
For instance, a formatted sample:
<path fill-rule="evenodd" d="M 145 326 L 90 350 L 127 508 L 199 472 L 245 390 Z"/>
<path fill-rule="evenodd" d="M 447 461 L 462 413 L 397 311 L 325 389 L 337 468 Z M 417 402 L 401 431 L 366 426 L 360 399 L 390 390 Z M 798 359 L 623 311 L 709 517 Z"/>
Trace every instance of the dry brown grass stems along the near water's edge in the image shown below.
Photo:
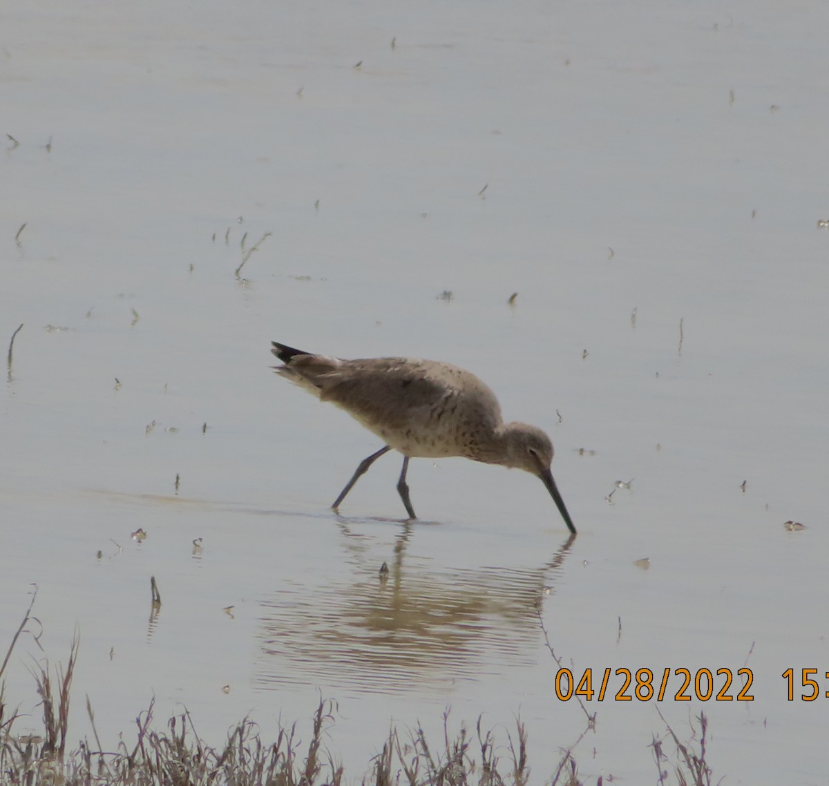
<path fill-rule="evenodd" d="M 449 711 L 444 712 L 444 735 L 441 740 L 427 740 L 424 730 L 397 730 L 392 727 L 381 752 L 368 762 L 366 773 L 346 774 L 332 751 L 323 745 L 323 735 L 335 722 L 337 703 L 320 697 L 313 712 L 312 733 L 308 743 L 298 738 L 297 724 L 284 726 L 276 740 L 266 742 L 259 727 L 244 718 L 231 727 L 227 739 L 212 747 L 197 734 L 189 711 L 169 718 L 160 728 L 154 723 L 154 700 L 136 718 L 133 744 L 120 735 L 115 750 L 101 745 L 95 727 L 95 712 L 86 697 L 91 737 L 80 739 L 75 747 L 69 742 L 70 689 L 78 657 L 77 636 L 70 644 L 65 667 L 58 666 L 54 677 L 48 663 L 32 668 L 37 695 L 40 696 L 42 729 L 37 734 L 18 735 L 16 709 L 4 699 L 3 674 L 12 657 L 17 640 L 28 630 L 35 603 L 32 593 L 22 623 L 0 664 L 0 780 L 10 786 L 603 786 L 603 779 L 583 779 L 574 750 L 594 728 L 595 716 L 588 716 L 587 727 L 570 748 L 561 749 L 557 768 L 550 773 L 531 772 L 527 750 L 527 732 L 516 718 L 514 732 L 506 740 L 497 740 L 492 730 L 482 726 L 479 717 L 474 730 L 460 725 L 449 729 Z M 541 622 L 541 616 L 539 617 Z M 547 647 L 546 631 L 543 623 Z M 555 658 L 552 648 L 550 653 Z M 585 711 L 585 714 L 586 711 Z M 653 735 L 649 745 L 658 776 L 658 786 L 711 786 L 712 773 L 705 761 L 708 741 L 707 719 L 701 713 L 691 723 L 692 740 L 681 742 L 662 717 L 667 736 Z M 31 718 L 27 718 L 31 720 Z M 503 735 L 502 735 L 503 736 Z M 675 748 L 672 758 L 663 750 L 664 742 Z M 531 775 L 533 776 L 531 778 Z M 541 778 L 541 780 L 539 780 Z M 608 783 L 613 778 L 608 777 Z"/>

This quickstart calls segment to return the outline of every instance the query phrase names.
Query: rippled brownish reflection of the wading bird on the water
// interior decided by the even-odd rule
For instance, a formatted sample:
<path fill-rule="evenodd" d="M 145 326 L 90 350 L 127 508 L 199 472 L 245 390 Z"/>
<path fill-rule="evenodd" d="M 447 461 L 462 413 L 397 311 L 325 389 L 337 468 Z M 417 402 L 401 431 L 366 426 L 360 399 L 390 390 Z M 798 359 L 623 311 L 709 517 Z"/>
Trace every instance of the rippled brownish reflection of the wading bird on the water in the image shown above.
<path fill-rule="evenodd" d="M 381 570 L 375 550 L 370 558 L 347 523 L 340 527 L 350 583 L 324 594 L 280 591 L 261 602 L 257 687 L 405 691 L 535 662 L 537 609 L 574 536 L 537 568 L 430 570 L 428 560 L 407 560 L 412 527 L 404 523 Z"/>

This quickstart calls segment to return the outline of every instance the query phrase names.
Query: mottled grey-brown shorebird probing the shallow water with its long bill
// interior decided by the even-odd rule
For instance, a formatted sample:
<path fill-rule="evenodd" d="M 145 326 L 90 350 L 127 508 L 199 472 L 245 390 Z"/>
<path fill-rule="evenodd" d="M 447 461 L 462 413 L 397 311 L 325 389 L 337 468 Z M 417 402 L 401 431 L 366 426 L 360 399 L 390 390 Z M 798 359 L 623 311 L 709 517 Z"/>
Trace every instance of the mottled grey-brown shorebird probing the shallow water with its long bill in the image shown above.
<path fill-rule="evenodd" d="M 565 524 L 575 527 L 550 472 L 553 444 L 526 423 L 504 423 L 495 394 L 470 371 L 414 357 L 342 360 L 271 342 L 284 366 L 274 366 L 321 401 L 331 401 L 377 434 L 385 445 L 364 458 L 331 506 L 335 511 L 371 464 L 394 449 L 403 454 L 397 491 L 410 518 L 406 484 L 410 458 L 463 456 L 523 469 L 541 478 Z"/>

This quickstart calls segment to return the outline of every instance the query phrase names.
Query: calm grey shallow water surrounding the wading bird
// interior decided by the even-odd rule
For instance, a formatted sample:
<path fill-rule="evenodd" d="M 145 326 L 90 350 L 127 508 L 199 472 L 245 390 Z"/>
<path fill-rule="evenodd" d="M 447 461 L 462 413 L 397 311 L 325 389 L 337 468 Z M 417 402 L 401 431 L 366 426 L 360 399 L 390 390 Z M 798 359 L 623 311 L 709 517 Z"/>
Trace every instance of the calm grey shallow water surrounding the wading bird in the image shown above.
<path fill-rule="evenodd" d="M 50 661 L 80 632 L 75 735 L 85 694 L 113 740 L 155 696 L 216 742 L 322 694 L 354 774 L 390 721 L 438 732 L 449 706 L 520 714 L 543 778 L 584 728 L 543 622 L 594 683 L 750 667 L 754 701 L 675 701 L 671 675 L 659 708 L 681 739 L 705 710 L 716 778 L 825 777 L 829 700 L 787 701 L 781 675 L 829 654 L 826 22 L 817 2 L 9 12 L 0 641 L 36 583 Z M 454 459 L 411 464 L 423 522 L 399 521 L 391 456 L 337 516 L 376 439 L 275 378 L 271 339 L 478 373 L 550 432 L 579 536 L 536 479 Z M 18 646 L 9 701 L 36 716 L 43 653 Z M 587 705 L 585 778 L 653 779 L 654 703 Z"/>

